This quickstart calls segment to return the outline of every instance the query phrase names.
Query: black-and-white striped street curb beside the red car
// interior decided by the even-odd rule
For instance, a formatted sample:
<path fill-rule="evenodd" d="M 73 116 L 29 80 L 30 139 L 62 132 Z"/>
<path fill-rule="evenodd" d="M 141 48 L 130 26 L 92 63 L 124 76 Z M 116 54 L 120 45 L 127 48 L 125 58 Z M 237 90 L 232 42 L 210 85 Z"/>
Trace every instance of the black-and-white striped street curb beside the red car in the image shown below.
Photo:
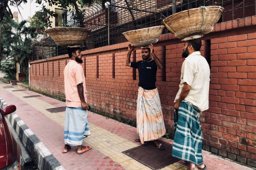
<path fill-rule="evenodd" d="M 0 107 L 3 108 L 6 105 L 5 100 L 0 97 Z M 54 155 L 51 154 L 46 146 L 15 112 L 5 117 L 8 118 L 15 132 L 18 134 L 21 143 L 26 148 L 31 159 L 36 163 L 38 170 L 65 170 Z"/>

